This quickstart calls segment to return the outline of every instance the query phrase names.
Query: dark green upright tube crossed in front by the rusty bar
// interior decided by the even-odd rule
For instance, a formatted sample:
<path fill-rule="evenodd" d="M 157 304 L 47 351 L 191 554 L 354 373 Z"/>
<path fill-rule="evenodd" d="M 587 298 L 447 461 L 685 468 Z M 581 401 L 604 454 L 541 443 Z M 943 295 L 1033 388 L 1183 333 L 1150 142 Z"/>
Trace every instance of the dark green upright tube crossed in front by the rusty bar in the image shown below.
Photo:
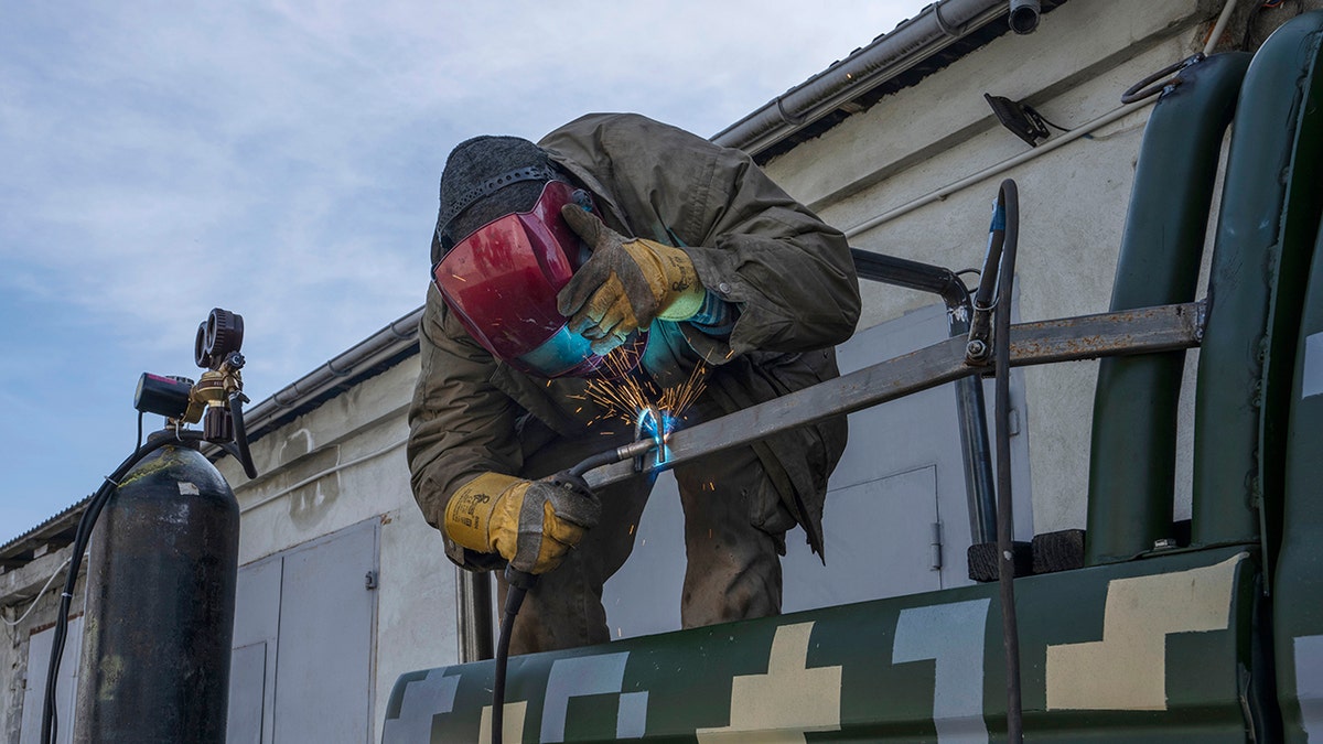
<path fill-rule="evenodd" d="M 1185 68 L 1158 101 L 1139 151 L 1111 310 L 1195 299 L 1218 152 L 1249 54 Z M 1176 417 L 1185 352 L 1098 367 L 1089 461 L 1088 565 L 1127 560 L 1171 536 Z"/>

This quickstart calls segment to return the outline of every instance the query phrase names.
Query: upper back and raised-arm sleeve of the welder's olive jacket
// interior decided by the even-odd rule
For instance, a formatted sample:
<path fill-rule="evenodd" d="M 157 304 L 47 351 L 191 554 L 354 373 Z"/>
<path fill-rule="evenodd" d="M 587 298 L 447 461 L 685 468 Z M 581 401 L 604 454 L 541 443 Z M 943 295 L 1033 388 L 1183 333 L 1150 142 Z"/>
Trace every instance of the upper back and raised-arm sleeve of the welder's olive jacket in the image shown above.
<path fill-rule="evenodd" d="M 610 195 L 609 212 L 634 236 L 684 248 L 703 285 L 734 304 L 728 338 L 681 323 L 709 361 L 819 349 L 855 331 L 859 279 L 845 236 L 745 152 L 638 114 L 589 114 L 542 144 Z"/>

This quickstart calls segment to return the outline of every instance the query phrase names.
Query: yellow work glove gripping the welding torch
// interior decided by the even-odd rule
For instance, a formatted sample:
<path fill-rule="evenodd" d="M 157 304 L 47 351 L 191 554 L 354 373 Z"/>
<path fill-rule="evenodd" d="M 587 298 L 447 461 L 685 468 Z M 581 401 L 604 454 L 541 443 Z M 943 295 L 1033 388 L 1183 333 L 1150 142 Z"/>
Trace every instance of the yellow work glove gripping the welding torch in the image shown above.
<path fill-rule="evenodd" d="M 578 475 L 549 481 L 483 473 L 446 506 L 446 534 L 480 553 L 500 553 L 525 573 L 546 573 L 597 526 L 602 503 Z"/>

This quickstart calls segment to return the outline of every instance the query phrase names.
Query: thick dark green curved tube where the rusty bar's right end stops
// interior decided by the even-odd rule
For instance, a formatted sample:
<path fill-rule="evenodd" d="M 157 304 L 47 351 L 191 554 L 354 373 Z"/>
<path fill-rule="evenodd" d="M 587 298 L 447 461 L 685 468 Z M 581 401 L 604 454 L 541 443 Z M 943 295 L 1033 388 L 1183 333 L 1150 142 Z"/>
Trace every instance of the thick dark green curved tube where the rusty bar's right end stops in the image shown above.
<path fill-rule="evenodd" d="M 1270 541 L 1277 530 L 1286 402 L 1323 203 L 1320 41 L 1323 12 L 1277 29 L 1237 105 L 1195 400 L 1195 545 Z"/>

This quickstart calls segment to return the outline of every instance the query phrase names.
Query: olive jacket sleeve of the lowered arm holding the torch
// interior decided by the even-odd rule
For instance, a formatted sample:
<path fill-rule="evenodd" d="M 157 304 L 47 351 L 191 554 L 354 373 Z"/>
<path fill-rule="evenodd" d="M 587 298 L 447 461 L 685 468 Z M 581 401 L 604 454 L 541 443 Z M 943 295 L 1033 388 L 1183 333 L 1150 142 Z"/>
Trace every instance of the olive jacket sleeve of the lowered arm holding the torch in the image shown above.
<path fill-rule="evenodd" d="M 492 356 L 447 311 L 434 286 L 418 328 L 422 368 L 409 408 L 409 473 L 423 518 L 446 536 L 446 553 L 466 568 L 487 568 L 443 528 L 450 495 L 482 473 L 519 473 L 519 406 L 491 383 Z"/>

